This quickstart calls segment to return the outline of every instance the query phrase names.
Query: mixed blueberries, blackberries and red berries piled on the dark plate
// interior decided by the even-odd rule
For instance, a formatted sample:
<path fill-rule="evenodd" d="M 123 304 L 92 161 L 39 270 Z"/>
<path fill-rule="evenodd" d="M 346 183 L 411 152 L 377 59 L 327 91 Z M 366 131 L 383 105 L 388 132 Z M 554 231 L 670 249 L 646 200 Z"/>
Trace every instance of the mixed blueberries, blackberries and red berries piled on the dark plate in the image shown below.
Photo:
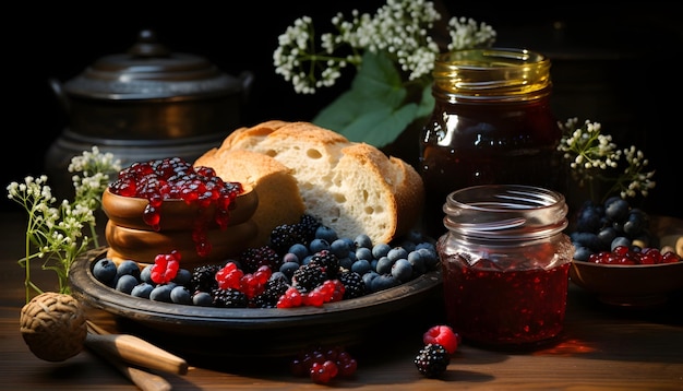
<path fill-rule="evenodd" d="M 154 264 L 100 259 L 94 276 L 117 291 L 153 300 L 223 308 L 291 308 L 351 299 L 409 282 L 435 270 L 433 240 L 410 233 L 399 242 L 338 238 L 302 215 L 273 229 L 271 240 L 219 264 L 185 270 L 181 254 L 158 254 Z"/>

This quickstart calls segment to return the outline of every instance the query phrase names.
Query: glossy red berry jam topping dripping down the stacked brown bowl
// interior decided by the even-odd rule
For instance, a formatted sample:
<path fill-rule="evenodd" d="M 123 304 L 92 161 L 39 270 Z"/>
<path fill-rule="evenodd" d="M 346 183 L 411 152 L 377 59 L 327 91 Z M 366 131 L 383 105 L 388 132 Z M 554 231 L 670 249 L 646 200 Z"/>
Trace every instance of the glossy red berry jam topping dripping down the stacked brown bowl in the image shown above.
<path fill-rule="evenodd" d="M 165 200 L 184 200 L 187 204 L 196 204 L 200 209 L 215 206 L 213 220 L 226 229 L 232 201 L 243 192 L 243 188 L 239 182 L 224 181 L 213 168 L 193 167 L 180 157 L 170 157 L 133 163 L 119 173 L 117 180 L 109 185 L 109 191 L 149 201 L 143 220 L 154 230 L 160 228 Z M 197 218 L 193 227 L 188 227 L 192 228 L 192 239 L 200 257 L 211 253 L 206 235 L 208 224 Z"/>

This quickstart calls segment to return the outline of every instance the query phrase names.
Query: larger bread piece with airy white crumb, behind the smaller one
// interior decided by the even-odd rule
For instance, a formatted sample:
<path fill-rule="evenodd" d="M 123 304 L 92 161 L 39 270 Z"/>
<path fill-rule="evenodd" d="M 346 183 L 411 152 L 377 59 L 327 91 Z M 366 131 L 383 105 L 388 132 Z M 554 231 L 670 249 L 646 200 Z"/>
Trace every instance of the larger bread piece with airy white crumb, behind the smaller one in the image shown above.
<path fill-rule="evenodd" d="M 291 168 L 307 213 L 339 236 L 391 242 L 416 227 L 422 212 L 424 188 L 412 166 L 310 122 L 240 128 L 220 150 L 262 153 Z"/>

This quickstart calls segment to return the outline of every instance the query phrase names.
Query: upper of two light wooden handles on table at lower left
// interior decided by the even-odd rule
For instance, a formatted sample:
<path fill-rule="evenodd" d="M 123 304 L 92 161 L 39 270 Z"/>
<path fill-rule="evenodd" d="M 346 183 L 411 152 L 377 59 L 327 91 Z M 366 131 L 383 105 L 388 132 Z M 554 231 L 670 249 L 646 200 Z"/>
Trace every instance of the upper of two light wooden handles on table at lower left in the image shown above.
<path fill-rule="evenodd" d="M 98 352 L 105 352 L 129 364 L 144 368 L 185 375 L 188 363 L 142 339 L 128 334 L 87 333 L 85 344 Z"/>

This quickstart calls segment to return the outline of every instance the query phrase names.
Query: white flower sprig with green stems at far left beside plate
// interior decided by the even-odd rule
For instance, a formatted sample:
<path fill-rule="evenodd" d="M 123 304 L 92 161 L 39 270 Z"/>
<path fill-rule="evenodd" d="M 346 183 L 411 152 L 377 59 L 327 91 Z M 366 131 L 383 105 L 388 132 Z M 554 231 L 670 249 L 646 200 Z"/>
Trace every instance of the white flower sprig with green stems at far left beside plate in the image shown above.
<path fill-rule="evenodd" d="M 31 279 L 31 261 L 34 259 L 43 260 L 43 270 L 57 273 L 60 293 L 70 293 L 68 276 L 71 264 L 91 246 L 99 246 L 94 212 L 101 204 L 109 174 L 120 169 L 120 162 L 115 161 L 111 153 L 101 154 L 97 146 L 93 146 L 92 152 L 74 156 L 69 165 L 70 173 L 80 173 L 72 178 L 74 200 L 63 200 L 57 206 L 57 199 L 52 197 L 45 175 L 38 178 L 27 176 L 23 183 L 12 182 L 7 187 L 8 198 L 22 205 L 28 217 L 26 256 L 19 261 L 25 269 L 26 303 L 31 300 L 32 293 L 43 293 Z M 83 234 L 86 227 L 92 236 Z"/>

